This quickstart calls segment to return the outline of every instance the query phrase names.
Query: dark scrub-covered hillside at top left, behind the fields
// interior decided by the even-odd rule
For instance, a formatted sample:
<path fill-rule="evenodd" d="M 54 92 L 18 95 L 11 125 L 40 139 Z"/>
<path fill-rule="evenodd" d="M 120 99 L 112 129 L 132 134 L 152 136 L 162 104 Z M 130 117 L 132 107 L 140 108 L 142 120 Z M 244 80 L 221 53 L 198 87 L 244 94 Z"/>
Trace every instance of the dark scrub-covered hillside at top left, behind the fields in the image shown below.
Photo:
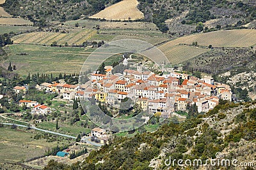
<path fill-rule="evenodd" d="M 77 20 L 81 16 L 88 17 L 118 1 L 120 0 L 6 0 L 2 6 L 13 16 L 45 26 L 51 21 L 65 22 Z"/>

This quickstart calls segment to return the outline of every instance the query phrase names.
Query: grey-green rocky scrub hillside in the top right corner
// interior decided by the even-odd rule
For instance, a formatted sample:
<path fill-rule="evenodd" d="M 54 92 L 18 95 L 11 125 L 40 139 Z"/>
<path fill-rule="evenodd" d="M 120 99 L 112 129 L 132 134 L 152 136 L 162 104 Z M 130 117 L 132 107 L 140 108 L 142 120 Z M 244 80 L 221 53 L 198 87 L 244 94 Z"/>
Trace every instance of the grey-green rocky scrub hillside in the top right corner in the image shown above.
<path fill-rule="evenodd" d="M 232 25 L 240 27 L 256 19 L 254 0 L 243 2 L 238 0 L 138 1 L 140 2 L 138 8 L 144 13 L 145 20 L 154 22 L 163 32 L 168 31 L 169 27 L 172 34 L 188 34 L 195 30 L 195 32 L 201 32 L 204 30 L 202 24 L 205 24 L 207 29 L 216 29 L 217 26 L 217 29 L 220 27 L 230 29 Z M 210 22 L 207 23 L 207 21 Z"/>

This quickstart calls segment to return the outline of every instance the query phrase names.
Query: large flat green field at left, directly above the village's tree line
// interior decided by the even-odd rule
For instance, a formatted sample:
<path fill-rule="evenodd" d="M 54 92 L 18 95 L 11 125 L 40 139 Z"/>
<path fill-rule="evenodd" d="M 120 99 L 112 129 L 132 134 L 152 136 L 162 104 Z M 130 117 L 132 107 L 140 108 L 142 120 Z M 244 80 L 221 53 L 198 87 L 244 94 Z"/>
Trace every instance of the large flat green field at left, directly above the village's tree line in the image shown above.
<path fill-rule="evenodd" d="M 17 67 L 15 73 L 79 73 L 91 52 L 84 48 L 66 48 L 38 45 L 6 46 L 9 59 L 2 65 L 8 67 L 9 60 Z M 26 53 L 27 55 L 20 55 Z"/>

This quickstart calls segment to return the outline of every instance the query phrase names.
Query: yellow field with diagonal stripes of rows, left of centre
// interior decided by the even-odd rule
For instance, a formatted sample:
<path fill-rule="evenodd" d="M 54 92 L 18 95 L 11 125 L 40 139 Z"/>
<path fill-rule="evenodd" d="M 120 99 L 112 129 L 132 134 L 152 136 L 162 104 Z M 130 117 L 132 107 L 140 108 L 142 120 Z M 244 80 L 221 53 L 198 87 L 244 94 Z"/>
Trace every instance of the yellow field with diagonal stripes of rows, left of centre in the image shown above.
<path fill-rule="evenodd" d="M 58 45 L 82 45 L 84 41 L 92 38 L 97 31 L 83 29 L 82 31 L 72 33 L 57 33 L 57 32 L 29 32 L 20 34 L 12 38 L 13 43 L 33 44 L 33 45 L 51 45 L 54 41 Z"/>

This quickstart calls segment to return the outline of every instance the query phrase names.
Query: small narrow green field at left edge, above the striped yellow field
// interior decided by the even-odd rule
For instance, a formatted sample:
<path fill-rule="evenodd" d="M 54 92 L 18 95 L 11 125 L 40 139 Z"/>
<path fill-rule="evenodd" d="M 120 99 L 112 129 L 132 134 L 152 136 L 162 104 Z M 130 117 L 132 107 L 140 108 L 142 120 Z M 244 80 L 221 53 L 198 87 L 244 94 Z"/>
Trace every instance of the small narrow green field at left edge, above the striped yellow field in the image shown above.
<path fill-rule="evenodd" d="M 37 27 L 0 25 L 0 34 L 9 33 L 11 31 L 15 34 L 19 34 L 21 32 L 26 32 L 35 29 L 37 29 Z"/>

